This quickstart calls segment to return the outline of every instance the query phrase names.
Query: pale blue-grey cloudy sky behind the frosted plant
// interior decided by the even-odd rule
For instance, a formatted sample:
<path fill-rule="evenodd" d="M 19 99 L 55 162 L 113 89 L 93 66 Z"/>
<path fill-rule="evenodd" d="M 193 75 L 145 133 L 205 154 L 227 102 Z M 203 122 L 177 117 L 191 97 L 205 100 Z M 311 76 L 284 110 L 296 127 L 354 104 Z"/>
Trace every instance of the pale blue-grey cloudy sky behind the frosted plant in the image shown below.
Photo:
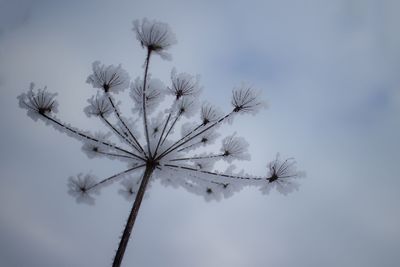
<path fill-rule="evenodd" d="M 178 39 L 154 77 L 200 74 L 223 110 L 242 81 L 263 90 L 268 110 L 222 128 L 250 143 L 241 167 L 261 175 L 281 152 L 307 177 L 288 196 L 247 188 L 220 202 L 154 183 L 124 266 L 400 266 L 399 11 L 395 0 L 0 1 L 0 266 L 110 266 L 131 203 L 114 184 L 78 205 L 66 184 L 125 166 L 88 159 L 16 97 L 47 85 L 60 118 L 96 128 L 82 111 L 91 63 L 141 75 L 131 28 L 143 17 Z"/>

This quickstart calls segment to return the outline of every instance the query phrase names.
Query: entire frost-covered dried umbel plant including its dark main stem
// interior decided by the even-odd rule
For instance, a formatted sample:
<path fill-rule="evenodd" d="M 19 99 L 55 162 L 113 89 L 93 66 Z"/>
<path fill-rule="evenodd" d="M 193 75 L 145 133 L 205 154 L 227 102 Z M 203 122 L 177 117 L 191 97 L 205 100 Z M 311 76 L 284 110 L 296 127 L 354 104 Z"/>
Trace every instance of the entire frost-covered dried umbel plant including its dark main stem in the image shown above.
<path fill-rule="evenodd" d="M 90 132 L 63 122 L 56 116 L 56 95 L 46 87 L 35 90 L 32 83 L 28 92 L 18 96 L 19 105 L 33 120 L 43 120 L 55 129 L 79 139 L 82 150 L 89 158 L 107 157 L 126 162 L 127 168 L 105 179 L 91 174 L 78 174 L 69 178 L 69 193 L 77 202 L 94 203 L 94 195 L 104 185 L 121 181 L 120 193 L 134 199 L 127 224 L 122 234 L 113 266 L 120 266 L 128 244 L 136 215 L 150 181 L 182 187 L 206 200 L 229 197 L 245 186 L 258 187 L 268 193 L 272 188 L 287 194 L 297 189 L 295 179 L 299 172 L 293 159 L 281 160 L 279 155 L 266 166 L 262 176 L 244 171 L 234 173 L 232 162 L 248 160 L 248 143 L 236 133 L 221 138 L 219 151 L 207 151 L 210 144 L 220 138 L 218 129 L 232 123 L 234 117 L 255 114 L 265 108 L 260 91 L 242 84 L 232 91 L 231 109 L 223 113 L 209 102 L 200 102 L 202 88 L 197 76 L 171 72 L 168 85 L 151 76 L 152 56 L 169 59 L 167 50 L 176 43 L 170 27 L 158 21 L 134 21 L 133 31 L 145 49 L 144 74 L 130 80 L 121 65 L 93 63 L 93 73 L 87 78 L 97 92 L 88 99 L 84 109 L 88 117 L 101 120 L 107 131 Z M 133 118 L 123 116 L 116 95 L 129 90 L 134 108 Z M 167 99 L 167 100 L 165 100 Z M 163 110 L 160 103 L 170 103 Z M 165 107 L 164 105 L 161 105 Z M 139 123 L 138 123 L 139 121 Z M 175 133 L 180 127 L 180 135 Z M 113 139 L 112 135 L 114 136 Z M 202 152 L 196 152 L 202 151 Z M 226 161 L 225 171 L 216 170 L 217 161 Z"/>

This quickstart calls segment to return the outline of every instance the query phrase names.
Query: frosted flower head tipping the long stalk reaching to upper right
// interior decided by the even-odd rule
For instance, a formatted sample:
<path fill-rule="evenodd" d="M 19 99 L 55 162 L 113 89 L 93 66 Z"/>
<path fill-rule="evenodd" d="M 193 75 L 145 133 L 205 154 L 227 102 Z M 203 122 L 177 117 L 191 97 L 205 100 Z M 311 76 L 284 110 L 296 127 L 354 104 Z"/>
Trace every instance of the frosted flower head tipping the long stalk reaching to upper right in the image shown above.
<path fill-rule="evenodd" d="M 231 104 L 234 111 L 238 113 L 255 114 L 266 107 L 266 104 L 260 98 L 260 91 L 244 84 L 233 90 Z"/>

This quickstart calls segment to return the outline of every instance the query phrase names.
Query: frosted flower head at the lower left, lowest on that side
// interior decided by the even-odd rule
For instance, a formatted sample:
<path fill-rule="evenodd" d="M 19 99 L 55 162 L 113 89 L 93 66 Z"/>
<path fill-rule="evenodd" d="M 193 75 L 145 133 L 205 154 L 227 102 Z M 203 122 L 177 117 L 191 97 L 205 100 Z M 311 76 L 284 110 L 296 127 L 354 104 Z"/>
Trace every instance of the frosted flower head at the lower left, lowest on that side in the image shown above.
<path fill-rule="evenodd" d="M 94 188 L 95 178 L 90 174 L 78 174 L 68 179 L 68 193 L 76 198 L 78 203 L 94 204 L 94 193 L 98 191 Z"/>

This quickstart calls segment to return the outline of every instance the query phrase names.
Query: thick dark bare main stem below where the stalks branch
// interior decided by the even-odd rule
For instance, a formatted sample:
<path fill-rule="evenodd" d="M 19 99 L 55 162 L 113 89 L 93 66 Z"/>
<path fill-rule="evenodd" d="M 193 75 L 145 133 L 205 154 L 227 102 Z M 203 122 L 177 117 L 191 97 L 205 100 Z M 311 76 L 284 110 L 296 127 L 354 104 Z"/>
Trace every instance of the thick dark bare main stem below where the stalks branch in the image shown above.
<path fill-rule="evenodd" d="M 150 180 L 151 174 L 155 168 L 154 164 L 147 164 L 146 170 L 144 171 L 142 182 L 140 183 L 139 191 L 136 195 L 135 202 L 133 203 L 131 213 L 129 214 L 124 233 L 122 234 L 121 240 L 118 245 L 118 250 L 115 253 L 113 267 L 120 267 L 122 258 L 124 257 L 126 247 L 128 245 L 129 237 L 132 233 L 133 225 L 135 224 L 136 216 L 139 212 L 140 205 L 142 204 L 143 196 L 146 191 L 147 184 Z"/>

